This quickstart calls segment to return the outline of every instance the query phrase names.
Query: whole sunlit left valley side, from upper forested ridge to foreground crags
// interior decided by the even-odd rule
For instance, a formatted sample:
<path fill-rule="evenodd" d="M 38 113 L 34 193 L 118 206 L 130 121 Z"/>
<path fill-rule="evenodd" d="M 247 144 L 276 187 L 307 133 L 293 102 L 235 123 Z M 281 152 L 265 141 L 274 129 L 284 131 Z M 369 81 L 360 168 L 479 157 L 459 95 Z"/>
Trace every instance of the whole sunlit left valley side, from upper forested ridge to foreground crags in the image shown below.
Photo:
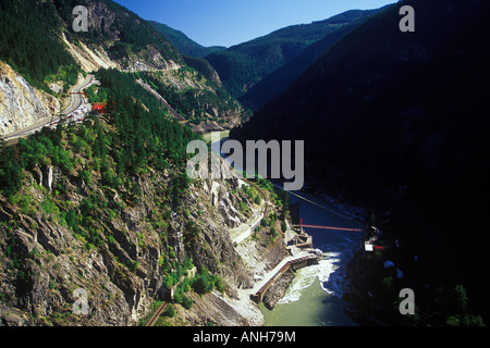
<path fill-rule="evenodd" d="M 87 33 L 73 32 L 75 5 L 88 9 Z M 86 98 L 105 103 L 83 123 L 0 139 L 0 324 L 136 325 L 170 288 L 180 325 L 256 324 L 221 295 L 231 301 L 254 283 L 229 229 L 259 209 L 258 194 L 237 181 L 186 175 L 187 144 L 200 138 L 188 125 L 240 121 L 240 103 L 112 1 L 7 0 L 0 9 L 0 110 L 11 109 L 2 92 L 20 84 L 70 100 L 88 73 L 99 84 Z M 155 91 L 187 120 L 173 117 Z M 282 235 L 269 234 L 283 224 L 275 213 L 286 214 L 270 195 L 277 209 L 261 248 L 264 264 L 274 266 Z M 73 307 L 81 294 L 82 314 Z"/>

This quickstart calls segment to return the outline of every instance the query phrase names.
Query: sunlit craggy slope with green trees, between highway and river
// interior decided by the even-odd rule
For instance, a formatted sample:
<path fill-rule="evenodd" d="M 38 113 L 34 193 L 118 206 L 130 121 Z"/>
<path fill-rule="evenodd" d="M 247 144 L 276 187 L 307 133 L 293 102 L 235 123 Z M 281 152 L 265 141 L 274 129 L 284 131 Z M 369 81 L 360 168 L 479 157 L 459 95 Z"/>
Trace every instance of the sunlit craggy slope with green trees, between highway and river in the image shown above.
<path fill-rule="evenodd" d="M 197 136 L 130 75 L 97 78 L 109 96 L 103 117 L 0 144 L 3 325 L 135 325 L 194 266 L 176 308 L 191 310 L 191 288 L 234 295 L 250 282 L 228 233 L 246 219 L 234 207 L 250 198 L 229 192 L 236 182 L 189 181 L 186 146 Z M 79 289 L 82 315 L 73 311 Z M 232 310 L 209 320 L 248 323 Z"/>

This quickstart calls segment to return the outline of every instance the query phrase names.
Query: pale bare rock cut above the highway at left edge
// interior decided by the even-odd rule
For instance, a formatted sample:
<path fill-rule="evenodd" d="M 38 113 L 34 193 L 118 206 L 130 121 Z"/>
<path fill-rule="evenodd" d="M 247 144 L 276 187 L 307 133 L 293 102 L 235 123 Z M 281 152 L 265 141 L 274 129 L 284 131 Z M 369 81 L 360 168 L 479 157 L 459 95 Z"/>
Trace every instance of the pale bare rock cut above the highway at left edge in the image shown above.
<path fill-rule="evenodd" d="M 32 87 L 0 61 L 0 136 L 22 129 L 60 111 L 59 101 Z"/>

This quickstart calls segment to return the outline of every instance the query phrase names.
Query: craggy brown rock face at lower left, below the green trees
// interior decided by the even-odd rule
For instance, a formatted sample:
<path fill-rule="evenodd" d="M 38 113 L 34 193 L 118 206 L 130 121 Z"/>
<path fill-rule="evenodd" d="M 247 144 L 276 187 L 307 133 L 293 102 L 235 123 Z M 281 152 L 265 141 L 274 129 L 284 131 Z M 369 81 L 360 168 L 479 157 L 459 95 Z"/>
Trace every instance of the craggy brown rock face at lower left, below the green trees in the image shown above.
<path fill-rule="evenodd" d="M 237 297 L 238 288 L 252 287 L 250 271 L 229 236 L 230 227 L 247 219 L 238 211 L 240 203 L 253 204 L 236 181 L 209 179 L 193 186 L 183 204 L 187 211 L 172 213 L 164 229 L 155 227 L 161 213 L 157 187 L 169 181 L 164 173 L 150 171 L 135 178 L 140 187 L 140 200 L 135 203 L 124 202 L 121 192 L 102 189 L 97 177 L 91 185 L 62 175 L 42 181 L 40 176 L 49 176 L 49 171 L 42 167 L 34 171 L 37 175 L 27 174 L 21 199 L 28 200 L 27 206 L 0 196 L 1 324 L 134 325 L 160 297 L 166 258 L 170 262 L 192 258 L 199 269 L 220 275 L 230 298 Z M 97 225 L 102 244 L 96 248 L 87 247 L 56 210 L 46 208 L 58 199 L 66 207 L 79 206 L 89 192 L 98 195 L 101 206 L 124 206 L 109 215 L 101 209 Z M 192 224 L 199 228 L 194 239 Z M 87 315 L 73 313 L 77 289 L 87 291 Z M 185 314 L 191 324 L 250 323 L 215 295 L 208 295 L 209 301 L 191 297 L 197 303 Z"/>

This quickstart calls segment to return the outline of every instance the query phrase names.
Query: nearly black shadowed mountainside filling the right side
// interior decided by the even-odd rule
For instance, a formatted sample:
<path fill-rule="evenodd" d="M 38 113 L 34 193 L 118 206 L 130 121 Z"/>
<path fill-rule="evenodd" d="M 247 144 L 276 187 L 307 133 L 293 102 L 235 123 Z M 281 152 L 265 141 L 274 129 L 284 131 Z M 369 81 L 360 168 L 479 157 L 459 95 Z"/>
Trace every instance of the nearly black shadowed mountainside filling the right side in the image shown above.
<path fill-rule="evenodd" d="M 399 29 L 403 4 L 415 33 Z M 424 264 L 415 284 L 462 282 L 487 315 L 489 11 L 477 0 L 392 5 L 231 134 L 304 139 L 310 183 L 389 220 L 403 260 Z"/>

